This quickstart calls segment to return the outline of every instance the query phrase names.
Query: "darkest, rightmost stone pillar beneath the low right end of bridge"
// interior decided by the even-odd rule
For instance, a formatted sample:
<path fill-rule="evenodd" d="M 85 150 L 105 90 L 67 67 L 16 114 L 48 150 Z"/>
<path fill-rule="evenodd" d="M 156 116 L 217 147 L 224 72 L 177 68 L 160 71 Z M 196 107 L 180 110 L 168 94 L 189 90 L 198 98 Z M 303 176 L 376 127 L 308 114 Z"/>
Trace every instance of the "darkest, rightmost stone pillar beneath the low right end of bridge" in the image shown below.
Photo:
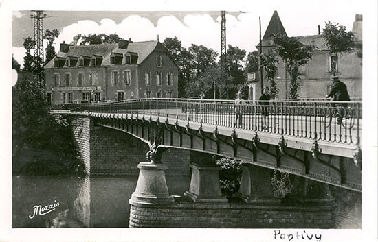
<path fill-rule="evenodd" d="M 335 198 L 331 195 L 329 185 L 296 176 L 290 197 L 304 204 L 322 204 L 333 206 Z"/>

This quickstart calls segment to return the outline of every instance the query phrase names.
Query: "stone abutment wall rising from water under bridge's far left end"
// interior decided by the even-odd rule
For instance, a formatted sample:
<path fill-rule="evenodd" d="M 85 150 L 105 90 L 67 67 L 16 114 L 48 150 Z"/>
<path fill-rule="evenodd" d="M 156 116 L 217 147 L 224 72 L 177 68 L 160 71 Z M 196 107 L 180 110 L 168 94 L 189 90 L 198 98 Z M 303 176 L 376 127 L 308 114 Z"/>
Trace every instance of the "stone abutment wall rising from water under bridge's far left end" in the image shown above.
<path fill-rule="evenodd" d="M 96 126 L 85 115 L 69 119 L 75 143 L 91 176 L 137 176 L 148 145 L 125 132 Z M 167 176 L 190 176 L 190 151 L 168 149 L 162 154 Z"/>

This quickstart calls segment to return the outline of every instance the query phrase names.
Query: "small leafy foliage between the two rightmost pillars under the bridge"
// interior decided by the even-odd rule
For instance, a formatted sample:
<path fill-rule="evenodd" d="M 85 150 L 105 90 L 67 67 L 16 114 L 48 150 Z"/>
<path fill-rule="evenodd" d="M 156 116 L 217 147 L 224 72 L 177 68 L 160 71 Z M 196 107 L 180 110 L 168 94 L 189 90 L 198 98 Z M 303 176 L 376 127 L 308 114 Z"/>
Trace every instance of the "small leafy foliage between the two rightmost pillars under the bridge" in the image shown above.
<path fill-rule="evenodd" d="M 282 171 L 273 171 L 271 178 L 271 185 L 273 186 L 273 192 L 275 197 L 283 198 L 293 189 L 291 184 L 290 174 Z"/>

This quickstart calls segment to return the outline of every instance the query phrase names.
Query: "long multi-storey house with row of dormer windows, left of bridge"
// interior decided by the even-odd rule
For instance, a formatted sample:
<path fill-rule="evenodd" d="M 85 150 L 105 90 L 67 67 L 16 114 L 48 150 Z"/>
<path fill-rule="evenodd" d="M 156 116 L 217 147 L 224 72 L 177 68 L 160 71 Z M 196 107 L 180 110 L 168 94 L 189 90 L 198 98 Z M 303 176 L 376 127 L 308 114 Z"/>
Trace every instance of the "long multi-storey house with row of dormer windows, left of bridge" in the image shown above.
<path fill-rule="evenodd" d="M 62 43 L 45 65 L 47 100 L 52 104 L 177 97 L 177 78 L 177 64 L 159 40 Z"/>

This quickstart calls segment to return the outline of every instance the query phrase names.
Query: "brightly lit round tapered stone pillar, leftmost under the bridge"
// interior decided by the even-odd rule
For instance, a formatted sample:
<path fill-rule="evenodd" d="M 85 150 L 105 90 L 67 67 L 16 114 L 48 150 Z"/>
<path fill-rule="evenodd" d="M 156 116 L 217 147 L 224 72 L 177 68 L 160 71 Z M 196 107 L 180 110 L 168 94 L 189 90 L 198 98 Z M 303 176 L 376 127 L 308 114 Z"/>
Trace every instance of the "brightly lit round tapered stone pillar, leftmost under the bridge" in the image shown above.
<path fill-rule="evenodd" d="M 140 173 L 135 192 L 129 200 L 131 205 L 160 205 L 174 202 L 173 197 L 168 193 L 164 172 L 166 165 L 140 162 L 138 168 Z"/>

